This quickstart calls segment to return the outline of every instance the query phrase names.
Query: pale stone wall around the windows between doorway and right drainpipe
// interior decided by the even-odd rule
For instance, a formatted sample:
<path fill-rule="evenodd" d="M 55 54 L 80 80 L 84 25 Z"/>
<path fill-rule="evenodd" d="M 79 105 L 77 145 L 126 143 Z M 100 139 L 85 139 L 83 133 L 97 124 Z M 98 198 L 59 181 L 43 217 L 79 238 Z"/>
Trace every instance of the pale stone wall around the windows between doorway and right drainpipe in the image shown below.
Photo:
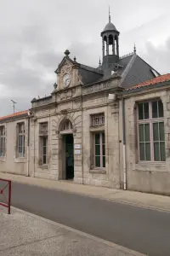
<path fill-rule="evenodd" d="M 107 104 L 106 94 L 84 101 L 83 107 L 83 183 L 119 189 L 119 108 Z M 105 131 L 105 168 L 101 170 L 91 168 L 91 134 L 95 129 L 90 129 L 90 115 L 95 113 L 105 113 L 105 127 L 97 130 Z"/>

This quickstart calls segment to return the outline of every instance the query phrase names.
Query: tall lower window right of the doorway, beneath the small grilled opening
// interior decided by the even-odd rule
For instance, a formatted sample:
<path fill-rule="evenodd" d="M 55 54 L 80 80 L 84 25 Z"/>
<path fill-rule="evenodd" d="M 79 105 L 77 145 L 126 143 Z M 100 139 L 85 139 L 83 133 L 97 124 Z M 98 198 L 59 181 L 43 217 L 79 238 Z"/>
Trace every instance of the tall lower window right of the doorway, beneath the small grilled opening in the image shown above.
<path fill-rule="evenodd" d="M 105 168 L 105 132 L 94 133 L 94 167 Z"/>

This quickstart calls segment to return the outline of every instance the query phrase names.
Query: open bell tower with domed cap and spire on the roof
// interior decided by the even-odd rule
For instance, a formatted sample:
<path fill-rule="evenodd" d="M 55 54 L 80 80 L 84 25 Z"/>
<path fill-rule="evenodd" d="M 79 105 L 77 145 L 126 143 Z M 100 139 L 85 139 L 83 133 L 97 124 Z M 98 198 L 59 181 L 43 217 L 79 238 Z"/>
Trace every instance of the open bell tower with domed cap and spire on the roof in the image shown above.
<path fill-rule="evenodd" d="M 102 37 L 102 52 L 103 52 L 103 69 L 109 68 L 112 64 L 119 61 L 119 34 L 116 26 L 111 23 L 111 13 L 109 9 L 109 22 L 105 26 Z"/>

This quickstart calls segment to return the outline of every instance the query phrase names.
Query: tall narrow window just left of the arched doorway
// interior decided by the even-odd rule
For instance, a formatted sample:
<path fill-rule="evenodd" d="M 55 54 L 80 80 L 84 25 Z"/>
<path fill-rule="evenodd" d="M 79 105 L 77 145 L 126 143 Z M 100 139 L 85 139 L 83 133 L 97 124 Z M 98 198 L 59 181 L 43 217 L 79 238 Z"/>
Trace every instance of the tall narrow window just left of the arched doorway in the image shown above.
<path fill-rule="evenodd" d="M 48 122 L 39 125 L 39 165 L 48 164 Z"/>

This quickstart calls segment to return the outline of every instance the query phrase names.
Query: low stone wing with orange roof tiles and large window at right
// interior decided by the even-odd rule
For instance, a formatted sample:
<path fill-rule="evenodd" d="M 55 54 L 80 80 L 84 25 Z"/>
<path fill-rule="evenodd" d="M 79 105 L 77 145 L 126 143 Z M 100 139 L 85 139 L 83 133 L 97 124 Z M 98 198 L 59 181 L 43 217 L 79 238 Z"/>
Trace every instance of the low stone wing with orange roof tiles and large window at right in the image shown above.
<path fill-rule="evenodd" d="M 122 97 L 127 189 L 170 195 L 170 74 L 137 84 Z"/>

